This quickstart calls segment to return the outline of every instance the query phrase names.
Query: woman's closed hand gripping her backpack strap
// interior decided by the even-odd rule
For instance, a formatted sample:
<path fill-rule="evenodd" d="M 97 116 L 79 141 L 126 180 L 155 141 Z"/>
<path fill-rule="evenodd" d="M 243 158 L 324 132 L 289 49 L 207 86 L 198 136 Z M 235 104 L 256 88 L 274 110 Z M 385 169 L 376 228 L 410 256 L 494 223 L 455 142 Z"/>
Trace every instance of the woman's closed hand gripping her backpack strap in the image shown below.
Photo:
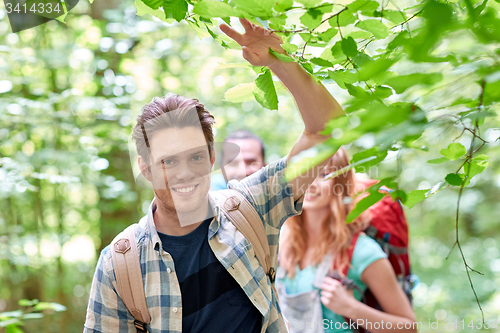
<path fill-rule="evenodd" d="M 341 316 L 346 316 L 356 302 L 352 290 L 347 290 L 340 281 L 328 276 L 321 284 L 320 295 L 321 302 Z"/>

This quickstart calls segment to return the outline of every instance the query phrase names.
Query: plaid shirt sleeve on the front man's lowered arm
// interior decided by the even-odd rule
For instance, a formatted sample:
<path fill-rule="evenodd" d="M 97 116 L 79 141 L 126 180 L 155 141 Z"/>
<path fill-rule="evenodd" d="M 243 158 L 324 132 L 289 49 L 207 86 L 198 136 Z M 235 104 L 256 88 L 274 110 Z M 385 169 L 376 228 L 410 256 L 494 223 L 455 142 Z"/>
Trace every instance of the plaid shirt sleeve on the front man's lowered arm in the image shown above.
<path fill-rule="evenodd" d="M 136 333 L 134 318 L 116 292 L 109 246 L 97 262 L 90 289 L 84 333 L 117 332 Z"/>

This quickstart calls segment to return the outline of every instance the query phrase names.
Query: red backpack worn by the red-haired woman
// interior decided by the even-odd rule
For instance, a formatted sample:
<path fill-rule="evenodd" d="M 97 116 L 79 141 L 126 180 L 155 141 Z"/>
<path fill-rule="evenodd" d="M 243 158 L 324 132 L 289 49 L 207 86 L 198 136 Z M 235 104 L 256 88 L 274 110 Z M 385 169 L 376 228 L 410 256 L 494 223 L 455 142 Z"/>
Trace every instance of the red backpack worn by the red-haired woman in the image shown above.
<path fill-rule="evenodd" d="M 375 181 L 376 182 L 376 181 Z M 370 187 L 375 183 L 374 181 L 361 182 L 366 187 Z M 379 191 L 390 193 L 390 189 L 381 187 Z M 410 304 L 412 303 L 411 290 L 413 288 L 413 275 L 410 269 L 410 258 L 408 249 L 408 222 L 403 211 L 403 207 L 399 200 L 393 201 L 390 195 L 386 195 L 369 208 L 371 213 L 370 225 L 364 230 L 365 234 L 373 238 L 384 250 L 389 262 L 391 263 L 399 284 L 403 288 Z M 360 232 L 352 236 L 351 244 L 347 250 L 349 262 L 352 260 L 354 247 Z M 348 289 L 357 288 L 353 281 L 347 278 L 349 267 L 346 266 L 343 270 L 345 278 L 340 278 L 338 272 L 334 271 L 333 278 L 341 280 L 342 284 Z M 358 288 L 359 290 L 359 288 Z M 380 304 L 377 302 L 375 296 L 369 289 L 362 294 L 361 301 L 366 305 L 383 311 Z M 351 323 L 349 318 L 345 318 L 348 323 Z M 358 327 L 359 333 L 367 332 L 364 328 Z"/>

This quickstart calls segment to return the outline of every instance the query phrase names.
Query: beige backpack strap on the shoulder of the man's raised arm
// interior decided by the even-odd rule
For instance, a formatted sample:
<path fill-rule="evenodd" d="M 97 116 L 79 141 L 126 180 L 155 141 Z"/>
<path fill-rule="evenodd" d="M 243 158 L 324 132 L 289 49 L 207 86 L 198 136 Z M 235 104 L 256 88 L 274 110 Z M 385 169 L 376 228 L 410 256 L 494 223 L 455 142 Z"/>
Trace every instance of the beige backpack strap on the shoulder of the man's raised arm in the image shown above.
<path fill-rule="evenodd" d="M 259 260 L 264 272 L 269 276 L 274 288 L 276 269 L 271 265 L 271 253 L 267 233 L 259 214 L 243 194 L 236 190 L 228 189 L 215 193 L 224 197 L 224 203 L 220 206 L 222 211 L 234 224 L 236 229 L 252 244 L 255 256 Z"/>

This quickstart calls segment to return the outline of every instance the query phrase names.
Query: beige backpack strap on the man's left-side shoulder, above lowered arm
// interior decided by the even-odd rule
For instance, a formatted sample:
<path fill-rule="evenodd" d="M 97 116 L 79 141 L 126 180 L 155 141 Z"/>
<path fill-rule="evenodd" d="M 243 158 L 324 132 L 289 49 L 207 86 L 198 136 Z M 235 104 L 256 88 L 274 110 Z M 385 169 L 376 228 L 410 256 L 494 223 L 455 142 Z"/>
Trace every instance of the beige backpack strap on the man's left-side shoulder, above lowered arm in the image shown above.
<path fill-rule="evenodd" d="M 137 332 L 147 332 L 150 323 L 146 295 L 142 282 L 139 252 L 135 240 L 135 225 L 125 229 L 111 243 L 111 258 L 116 275 L 117 292 L 125 306 L 134 316 Z"/>

